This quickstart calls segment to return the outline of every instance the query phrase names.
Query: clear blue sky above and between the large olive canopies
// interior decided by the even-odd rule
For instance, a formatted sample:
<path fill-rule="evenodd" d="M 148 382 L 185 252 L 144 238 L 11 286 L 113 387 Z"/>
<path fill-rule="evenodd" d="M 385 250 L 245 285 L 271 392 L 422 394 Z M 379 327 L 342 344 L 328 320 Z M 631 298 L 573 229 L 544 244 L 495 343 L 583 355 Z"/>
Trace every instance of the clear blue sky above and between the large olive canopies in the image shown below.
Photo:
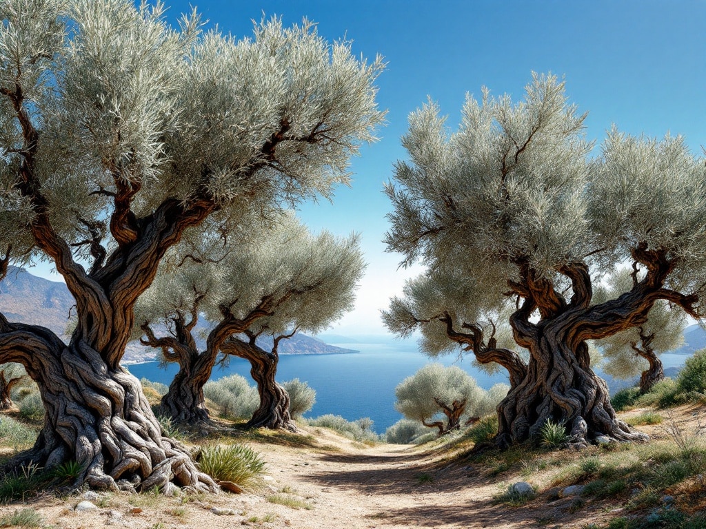
<path fill-rule="evenodd" d="M 706 145 L 706 2 L 693 1 L 421 1 L 421 0 L 165 0 L 169 18 L 196 5 L 209 25 L 237 37 L 252 20 L 282 16 L 285 25 L 306 16 L 328 39 L 347 37 L 356 54 L 385 57 L 378 82 L 388 109 L 381 141 L 354 159 L 352 188 L 337 190 L 333 205 L 305 205 L 313 228 L 358 231 L 369 262 L 357 310 L 338 334 L 382 334 L 379 309 L 416 271 L 397 272 L 399 255 L 381 243 L 390 209 L 381 190 L 393 163 L 405 157 L 400 136 L 407 115 L 438 102 L 455 128 L 467 92 L 486 85 L 494 94 L 522 97 L 530 73 L 566 78 L 587 133 L 601 140 L 615 123 L 628 133 L 681 134 L 695 153 Z"/>

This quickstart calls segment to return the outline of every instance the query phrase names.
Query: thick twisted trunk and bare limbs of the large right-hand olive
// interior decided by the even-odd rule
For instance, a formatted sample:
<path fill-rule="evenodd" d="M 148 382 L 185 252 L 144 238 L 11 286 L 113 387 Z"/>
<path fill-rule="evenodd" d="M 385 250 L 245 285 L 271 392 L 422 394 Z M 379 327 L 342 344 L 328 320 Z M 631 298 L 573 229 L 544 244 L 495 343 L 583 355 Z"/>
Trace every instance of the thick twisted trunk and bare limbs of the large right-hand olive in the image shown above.
<path fill-rule="evenodd" d="M 573 296 L 567 302 L 549 279 L 519 263 L 520 281 L 510 281 L 510 286 L 525 301 L 510 324 L 515 341 L 530 351 L 530 363 L 525 378 L 498 406 L 498 445 L 537 439 L 548 420 L 566 425 L 570 444 L 576 447 L 597 437 L 649 439 L 616 417 L 606 383 L 591 370 L 586 341 L 644 324 L 657 299 L 696 315 L 693 303 L 698 298 L 663 287 L 674 267 L 663 252 L 640 245 L 633 257 L 633 289 L 599 305 L 591 305 L 591 278 L 585 264 L 572 263 L 558 270 L 572 283 Z M 638 281 L 638 262 L 647 268 L 642 281 Z M 530 320 L 534 310 L 540 315 L 537 323 Z"/>

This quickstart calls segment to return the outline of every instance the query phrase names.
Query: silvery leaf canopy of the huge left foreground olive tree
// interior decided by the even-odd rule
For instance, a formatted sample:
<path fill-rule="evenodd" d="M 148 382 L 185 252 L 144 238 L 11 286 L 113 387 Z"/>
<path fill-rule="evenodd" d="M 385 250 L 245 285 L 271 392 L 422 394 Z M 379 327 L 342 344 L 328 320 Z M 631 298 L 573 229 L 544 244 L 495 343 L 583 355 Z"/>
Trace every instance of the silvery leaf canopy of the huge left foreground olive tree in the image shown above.
<path fill-rule="evenodd" d="M 136 193 L 138 218 L 197 196 L 235 216 L 330 197 L 383 121 L 373 86 L 381 59 L 358 59 L 313 23 L 284 28 L 273 18 L 236 39 L 202 32 L 196 12 L 174 28 L 165 9 L 131 0 L 0 4 L 0 90 L 25 98 L 39 133 L 33 170 L 68 243 L 90 238 L 88 224 L 112 210 L 120 181 Z M 15 116 L 1 97 L 0 240 L 26 255 L 32 212 L 13 185 L 24 141 Z M 265 152 L 273 138 L 275 151 Z M 76 252 L 87 257 L 88 247 Z"/>

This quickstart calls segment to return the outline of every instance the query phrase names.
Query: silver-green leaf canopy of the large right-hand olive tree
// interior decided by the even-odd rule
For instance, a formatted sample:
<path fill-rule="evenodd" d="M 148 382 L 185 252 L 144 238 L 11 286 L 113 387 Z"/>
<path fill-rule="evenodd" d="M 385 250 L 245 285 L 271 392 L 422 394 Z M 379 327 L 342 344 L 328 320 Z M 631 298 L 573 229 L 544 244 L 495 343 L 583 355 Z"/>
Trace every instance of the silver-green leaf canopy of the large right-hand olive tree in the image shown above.
<path fill-rule="evenodd" d="M 616 130 L 596 153 L 584 117 L 564 83 L 536 74 L 521 102 L 485 89 L 480 101 L 469 96 L 453 133 L 432 102 L 409 117 L 408 160 L 386 188 L 394 210 L 385 242 L 404 265 L 421 260 L 430 272 L 393 299 L 388 328 L 409 334 L 442 311 L 482 324 L 507 310 L 503 293 L 520 264 L 570 293 L 564 265 L 583 262 L 596 279 L 640 245 L 673 264 L 665 288 L 705 288 L 703 160 L 681 137 Z M 424 327 L 423 347 L 443 351 L 441 325 Z"/>

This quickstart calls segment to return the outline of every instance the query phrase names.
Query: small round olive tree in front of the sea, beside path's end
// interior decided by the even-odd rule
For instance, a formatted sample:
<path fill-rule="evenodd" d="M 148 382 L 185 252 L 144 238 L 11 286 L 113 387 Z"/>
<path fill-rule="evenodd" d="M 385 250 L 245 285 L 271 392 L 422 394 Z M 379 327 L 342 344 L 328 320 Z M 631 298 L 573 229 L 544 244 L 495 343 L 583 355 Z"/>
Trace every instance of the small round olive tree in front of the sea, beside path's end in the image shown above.
<path fill-rule="evenodd" d="M 438 428 L 438 434 L 443 435 L 461 427 L 462 415 L 474 415 L 483 394 L 460 367 L 429 364 L 397 385 L 395 408 L 426 427 Z"/>

